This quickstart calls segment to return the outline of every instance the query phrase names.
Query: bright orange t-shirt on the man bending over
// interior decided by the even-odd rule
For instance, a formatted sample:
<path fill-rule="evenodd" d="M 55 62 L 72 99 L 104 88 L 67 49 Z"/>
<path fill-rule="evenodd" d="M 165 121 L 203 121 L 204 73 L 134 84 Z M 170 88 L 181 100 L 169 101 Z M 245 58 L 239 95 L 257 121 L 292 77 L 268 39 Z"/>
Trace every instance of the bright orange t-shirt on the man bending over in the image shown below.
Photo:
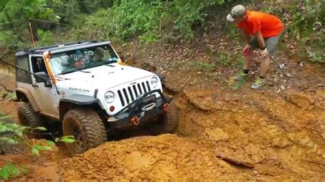
<path fill-rule="evenodd" d="M 278 36 L 284 27 L 276 16 L 254 11 L 248 11 L 247 20 L 243 23 L 237 23 L 237 26 L 252 35 L 261 31 L 263 38 Z"/>

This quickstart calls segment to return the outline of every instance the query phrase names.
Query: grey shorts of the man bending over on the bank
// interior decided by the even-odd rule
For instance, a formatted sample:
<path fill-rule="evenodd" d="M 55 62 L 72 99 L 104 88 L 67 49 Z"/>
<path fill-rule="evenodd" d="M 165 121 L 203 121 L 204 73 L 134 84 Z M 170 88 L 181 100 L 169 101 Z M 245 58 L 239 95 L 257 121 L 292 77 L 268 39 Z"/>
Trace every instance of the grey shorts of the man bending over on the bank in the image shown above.
<path fill-rule="evenodd" d="M 276 48 L 278 47 L 278 42 L 280 40 L 281 34 L 278 34 L 278 36 L 264 38 L 265 46 L 267 48 L 267 51 L 269 52 L 269 55 L 274 55 L 276 52 Z M 250 40 L 250 45 L 252 46 L 251 49 L 256 49 L 261 47 L 258 44 L 257 39 L 253 36 Z"/>

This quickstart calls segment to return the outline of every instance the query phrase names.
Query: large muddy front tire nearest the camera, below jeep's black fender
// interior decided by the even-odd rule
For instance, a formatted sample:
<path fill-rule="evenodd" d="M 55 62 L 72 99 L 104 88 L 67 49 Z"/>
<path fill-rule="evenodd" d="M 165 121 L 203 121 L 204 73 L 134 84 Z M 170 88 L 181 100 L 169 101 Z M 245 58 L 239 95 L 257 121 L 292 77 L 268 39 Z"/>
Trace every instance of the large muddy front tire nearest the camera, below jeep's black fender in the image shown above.
<path fill-rule="evenodd" d="M 75 136 L 75 142 L 66 143 L 71 155 L 84 153 L 107 140 L 104 123 L 91 109 L 71 109 L 64 115 L 62 130 L 64 136 Z"/>

